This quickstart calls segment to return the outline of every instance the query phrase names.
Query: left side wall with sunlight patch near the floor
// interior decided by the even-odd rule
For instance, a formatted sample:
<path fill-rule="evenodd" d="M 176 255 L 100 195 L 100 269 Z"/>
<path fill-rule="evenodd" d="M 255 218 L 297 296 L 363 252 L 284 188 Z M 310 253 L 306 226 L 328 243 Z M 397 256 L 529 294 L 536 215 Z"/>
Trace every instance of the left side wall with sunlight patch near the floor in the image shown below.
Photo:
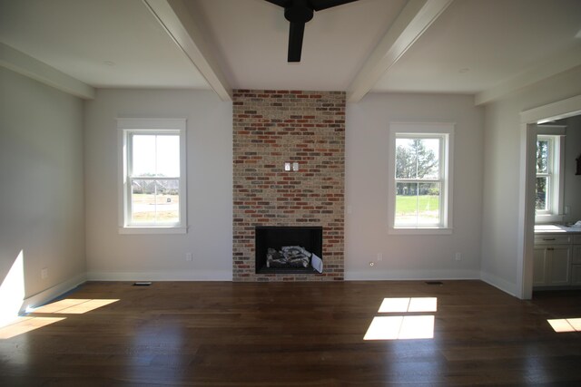
<path fill-rule="evenodd" d="M 22 250 L 24 296 L 46 301 L 84 281 L 83 102 L 4 68 L 0 84 L 0 286 Z"/>

